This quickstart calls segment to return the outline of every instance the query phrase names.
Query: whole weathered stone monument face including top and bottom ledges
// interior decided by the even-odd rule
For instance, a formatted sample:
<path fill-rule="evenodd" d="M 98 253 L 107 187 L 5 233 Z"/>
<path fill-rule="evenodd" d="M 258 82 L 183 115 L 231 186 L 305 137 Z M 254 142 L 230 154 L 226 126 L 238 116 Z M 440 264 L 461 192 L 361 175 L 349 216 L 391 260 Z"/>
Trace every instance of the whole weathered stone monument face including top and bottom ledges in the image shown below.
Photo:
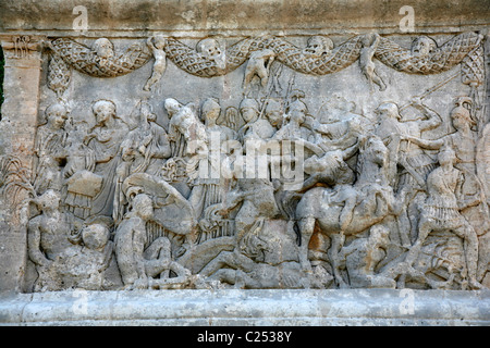
<path fill-rule="evenodd" d="M 438 294 L 488 310 L 485 1 L 22 3 L 0 4 L 7 322 L 105 323 L 109 301 L 200 324 L 130 306 L 188 289 L 265 296 L 273 324 L 292 294 L 308 324 L 323 296 L 375 324 L 404 323 L 376 309 L 404 290 L 412 324 L 455 323 Z M 74 289 L 101 307 L 70 319 Z"/>

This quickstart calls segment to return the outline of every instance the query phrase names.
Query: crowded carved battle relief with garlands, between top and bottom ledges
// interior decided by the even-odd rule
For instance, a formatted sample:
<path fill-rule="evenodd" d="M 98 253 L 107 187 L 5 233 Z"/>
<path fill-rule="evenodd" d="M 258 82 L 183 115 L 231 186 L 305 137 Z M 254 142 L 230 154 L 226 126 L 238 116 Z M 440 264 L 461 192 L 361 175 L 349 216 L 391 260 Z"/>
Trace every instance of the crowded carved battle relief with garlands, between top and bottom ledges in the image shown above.
<path fill-rule="evenodd" d="M 56 98 L 37 128 L 34 173 L 17 171 L 13 158 L 0 162 L 0 188 L 30 192 L 16 203 L 28 221 L 32 290 L 490 284 L 481 35 L 442 45 L 419 36 L 409 48 L 378 34 L 339 45 L 317 35 L 303 46 L 205 38 L 195 49 L 162 35 L 145 40 L 119 55 L 107 38 L 46 42 L 46 86 Z M 72 70 L 115 78 L 151 59 L 131 115 L 103 91 L 71 102 Z M 387 70 L 461 71 L 408 104 L 360 112 L 345 97 L 313 108 L 315 96 L 295 86 L 299 75 L 279 94 L 284 69 L 322 78 L 357 61 L 356 82 L 377 96 L 393 83 Z M 156 110 L 151 98 L 173 67 L 209 79 L 240 71 L 238 102 L 184 100 L 169 84 Z M 455 76 L 469 92 L 456 91 L 444 111 L 428 107 Z"/>

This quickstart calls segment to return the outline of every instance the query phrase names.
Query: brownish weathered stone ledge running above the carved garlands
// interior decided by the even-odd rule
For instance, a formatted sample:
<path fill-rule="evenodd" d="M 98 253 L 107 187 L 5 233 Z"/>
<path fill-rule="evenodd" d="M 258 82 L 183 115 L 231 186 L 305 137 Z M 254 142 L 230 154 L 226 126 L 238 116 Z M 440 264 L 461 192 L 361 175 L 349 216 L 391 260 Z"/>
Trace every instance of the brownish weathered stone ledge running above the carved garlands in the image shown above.
<path fill-rule="evenodd" d="M 103 32 L 120 30 L 125 36 L 134 36 L 134 32 L 151 30 L 205 30 L 207 34 L 238 30 L 243 34 L 287 28 L 287 32 L 315 30 L 318 34 L 318 28 L 329 33 L 352 33 L 376 27 L 400 34 L 399 24 L 403 17 L 400 9 L 404 5 L 414 8 L 417 33 L 471 30 L 489 24 L 489 8 L 481 0 L 451 3 L 318 0 L 306 3 L 298 0 L 168 0 L 164 3 L 156 0 L 3 0 L 0 3 L 0 32 L 40 30 L 62 35 L 68 30 L 74 36 L 100 36 Z M 74 13 L 76 5 L 87 11 L 86 33 L 73 29 L 79 13 L 76 10 Z"/>

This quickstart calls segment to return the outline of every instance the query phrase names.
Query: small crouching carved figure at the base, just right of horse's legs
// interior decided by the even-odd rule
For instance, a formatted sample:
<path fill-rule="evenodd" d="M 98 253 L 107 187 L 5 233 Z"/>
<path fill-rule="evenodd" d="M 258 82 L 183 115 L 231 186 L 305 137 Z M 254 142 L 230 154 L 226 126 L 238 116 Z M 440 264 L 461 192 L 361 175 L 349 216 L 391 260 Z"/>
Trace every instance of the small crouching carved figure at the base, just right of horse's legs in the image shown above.
<path fill-rule="evenodd" d="M 369 237 L 354 239 L 339 252 L 339 264 L 348 272 L 350 286 L 353 288 L 395 288 L 396 282 L 377 272 L 377 265 L 387 257 L 390 244 L 390 231 L 383 225 L 370 228 Z M 342 260 L 342 261 L 341 261 Z M 346 284 L 343 284 L 346 286 Z"/>

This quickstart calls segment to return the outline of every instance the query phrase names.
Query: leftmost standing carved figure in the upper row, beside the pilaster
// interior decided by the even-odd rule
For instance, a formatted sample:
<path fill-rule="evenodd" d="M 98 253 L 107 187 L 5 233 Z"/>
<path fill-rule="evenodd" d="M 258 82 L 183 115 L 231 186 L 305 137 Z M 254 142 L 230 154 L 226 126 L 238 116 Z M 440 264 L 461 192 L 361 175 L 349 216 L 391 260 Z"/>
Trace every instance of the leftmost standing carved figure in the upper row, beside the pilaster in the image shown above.
<path fill-rule="evenodd" d="M 38 195 L 52 188 L 61 190 L 66 161 L 66 109 L 56 103 L 46 109 L 47 123 L 37 129 L 35 153 L 38 158 L 34 189 Z"/>

